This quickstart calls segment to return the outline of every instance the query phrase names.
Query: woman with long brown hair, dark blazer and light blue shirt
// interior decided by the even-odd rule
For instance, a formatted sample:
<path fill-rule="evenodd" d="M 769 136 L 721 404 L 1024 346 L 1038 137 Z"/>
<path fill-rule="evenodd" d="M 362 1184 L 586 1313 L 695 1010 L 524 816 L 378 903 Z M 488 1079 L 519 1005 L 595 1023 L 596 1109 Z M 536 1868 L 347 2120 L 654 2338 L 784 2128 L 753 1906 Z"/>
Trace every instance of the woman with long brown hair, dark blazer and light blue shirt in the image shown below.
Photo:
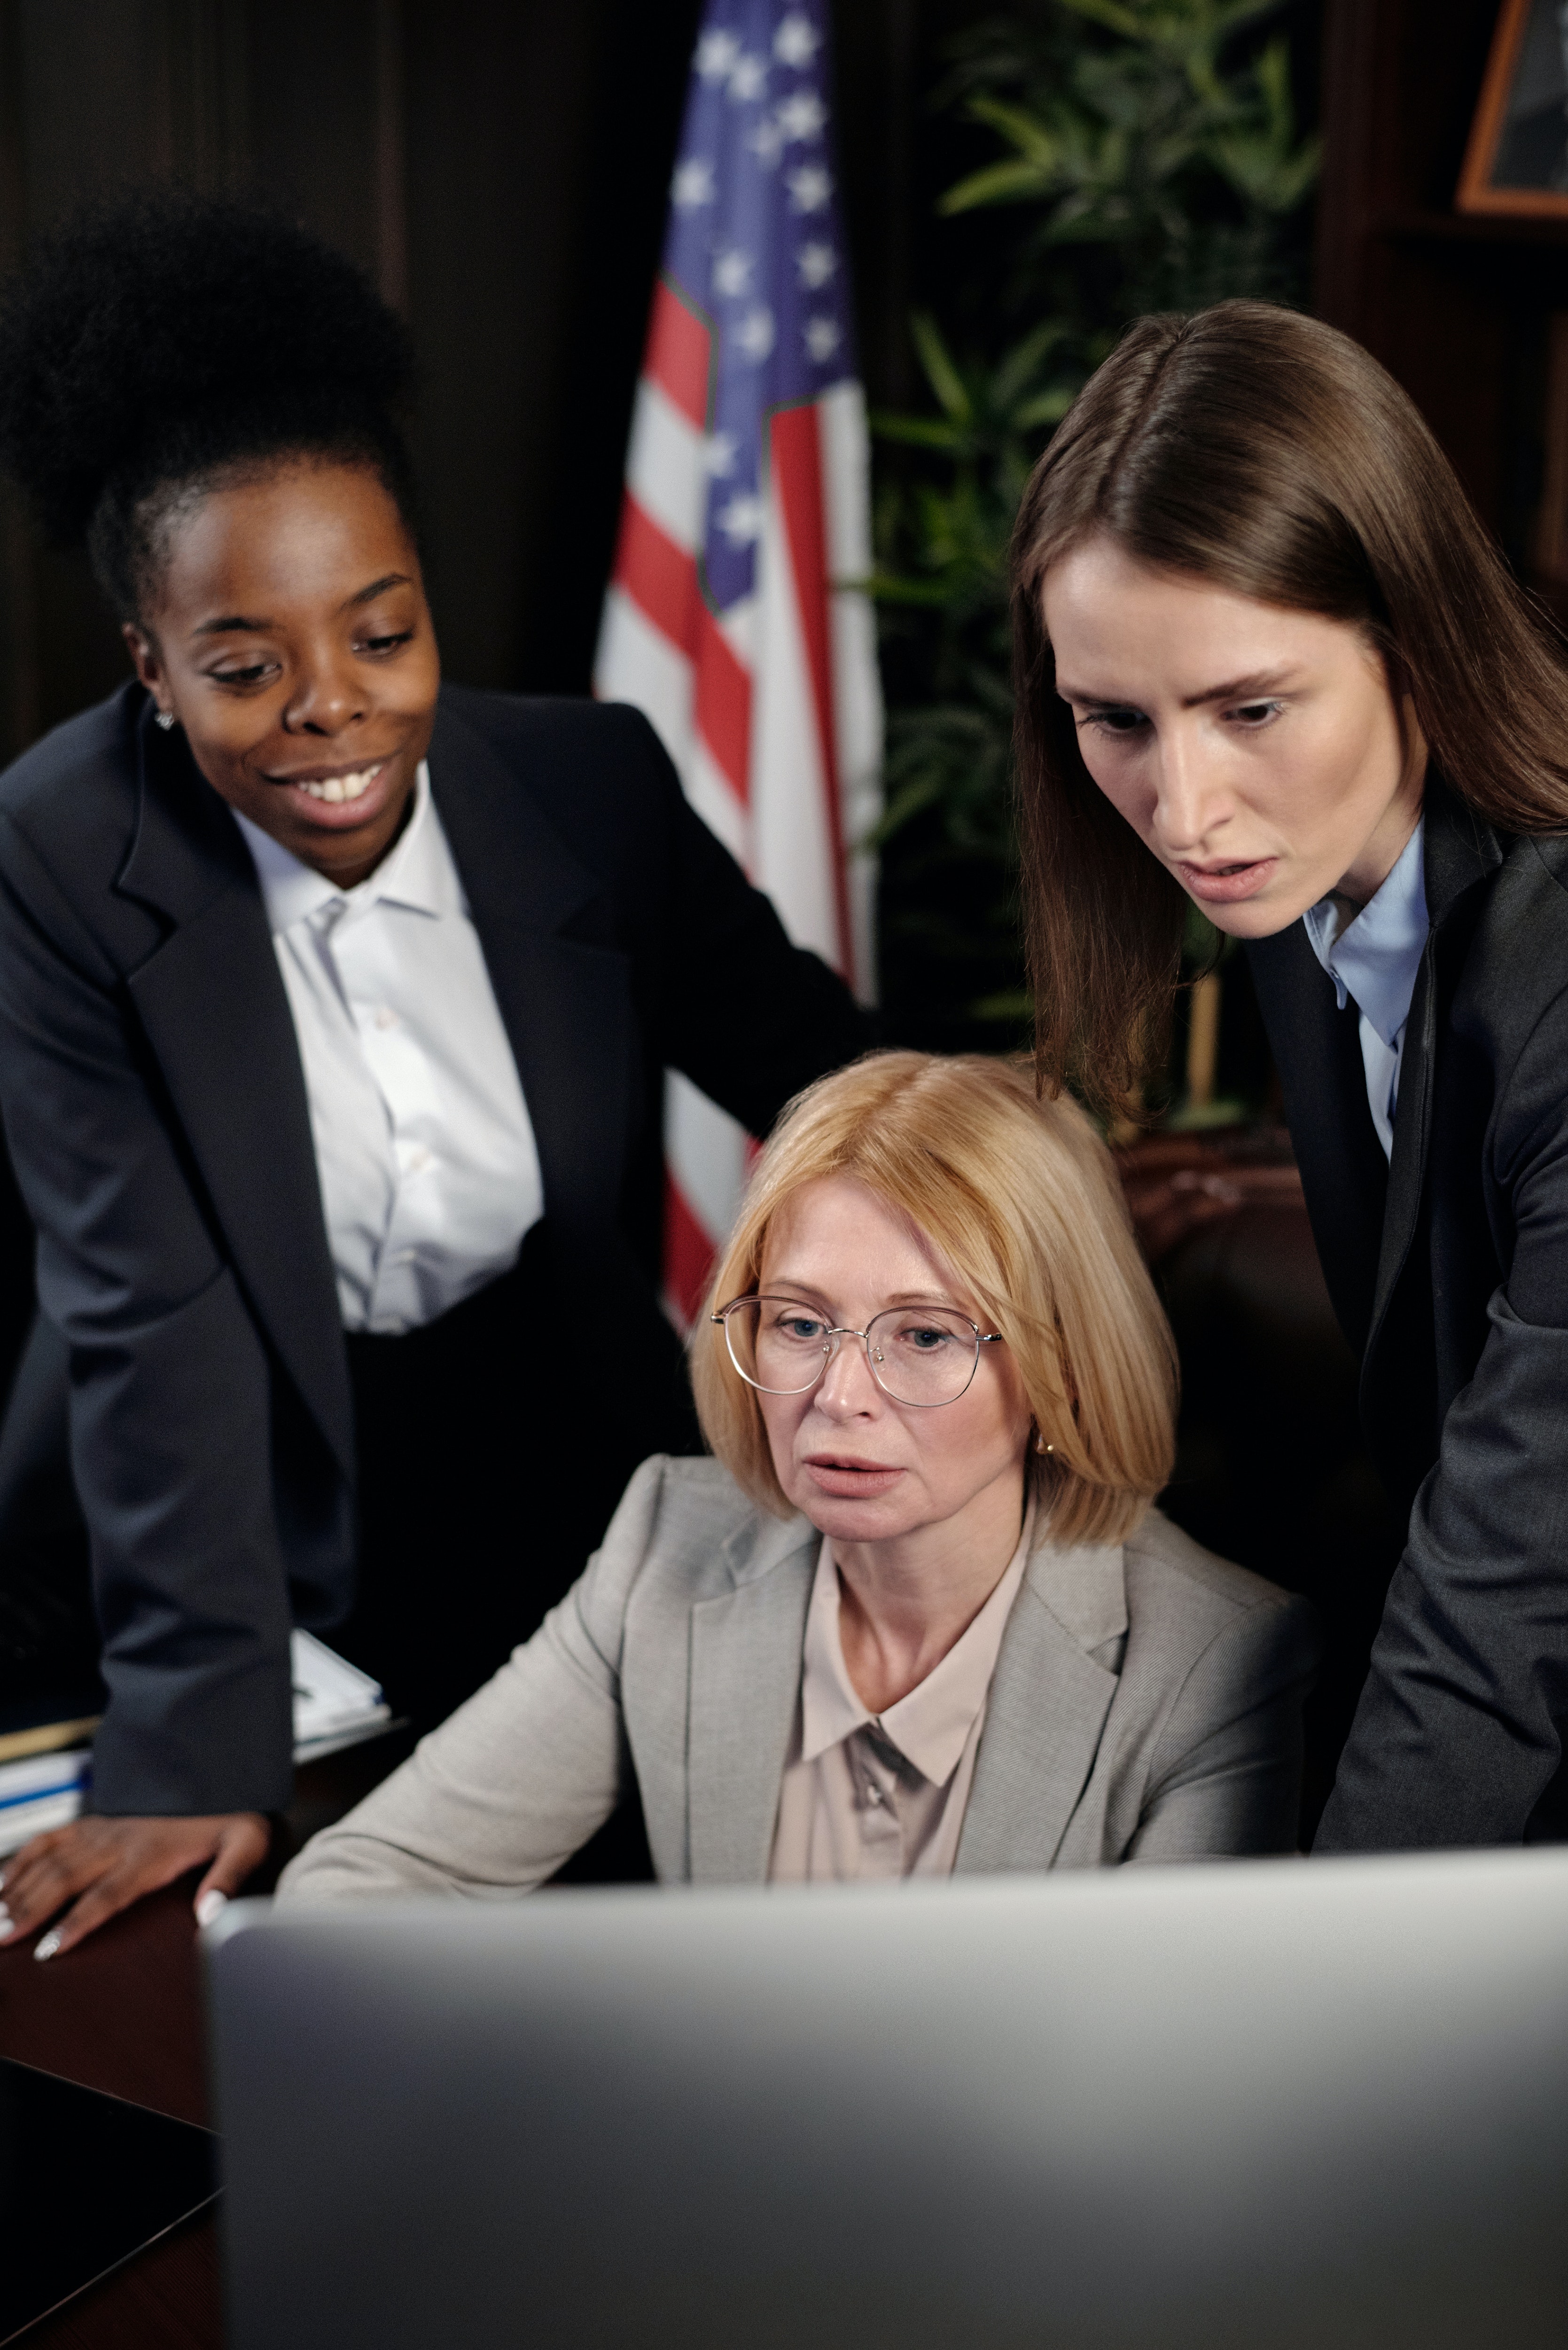
<path fill-rule="evenodd" d="M 1316 1849 L 1547 1831 L 1568 1716 L 1568 672 L 1333 329 L 1147 317 L 1013 552 L 1039 1065 L 1135 1109 L 1246 942 L 1408 1542 Z"/>

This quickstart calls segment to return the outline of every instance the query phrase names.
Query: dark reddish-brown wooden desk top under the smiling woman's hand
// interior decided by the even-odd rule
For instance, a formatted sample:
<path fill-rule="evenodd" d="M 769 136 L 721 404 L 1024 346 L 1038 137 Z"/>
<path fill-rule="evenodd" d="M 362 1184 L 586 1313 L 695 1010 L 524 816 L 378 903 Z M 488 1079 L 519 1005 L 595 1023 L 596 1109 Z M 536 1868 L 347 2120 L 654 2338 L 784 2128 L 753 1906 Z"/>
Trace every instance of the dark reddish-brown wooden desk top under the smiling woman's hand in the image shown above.
<path fill-rule="evenodd" d="M 275 1852 L 249 1892 L 270 1885 L 306 1835 L 360 1800 L 409 1751 L 393 1734 L 313 1762 Z M 33 1939 L 0 1950 L 0 2056 L 108 2089 L 181 2122 L 209 2122 L 202 1986 L 190 1901 L 195 1878 L 113 1918 L 42 1967 Z M 219 2228 L 188 2221 L 78 2294 L 26 2336 L 28 2350 L 223 2350 Z"/>

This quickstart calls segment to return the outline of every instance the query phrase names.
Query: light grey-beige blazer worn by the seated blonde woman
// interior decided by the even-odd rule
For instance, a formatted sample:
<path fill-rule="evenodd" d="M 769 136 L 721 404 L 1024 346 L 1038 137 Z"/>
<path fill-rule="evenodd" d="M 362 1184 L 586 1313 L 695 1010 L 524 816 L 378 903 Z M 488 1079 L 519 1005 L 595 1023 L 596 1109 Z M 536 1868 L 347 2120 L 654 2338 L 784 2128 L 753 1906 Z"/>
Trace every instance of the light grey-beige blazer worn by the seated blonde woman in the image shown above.
<path fill-rule="evenodd" d="M 759 1885 L 818 1532 L 712 1459 L 642 1464 L 604 1546 L 484 1690 L 284 1871 L 280 1899 L 550 1878 L 635 1774 L 663 1882 Z M 1295 1849 L 1312 1610 L 1150 1511 L 1030 1558 L 957 1871 Z"/>

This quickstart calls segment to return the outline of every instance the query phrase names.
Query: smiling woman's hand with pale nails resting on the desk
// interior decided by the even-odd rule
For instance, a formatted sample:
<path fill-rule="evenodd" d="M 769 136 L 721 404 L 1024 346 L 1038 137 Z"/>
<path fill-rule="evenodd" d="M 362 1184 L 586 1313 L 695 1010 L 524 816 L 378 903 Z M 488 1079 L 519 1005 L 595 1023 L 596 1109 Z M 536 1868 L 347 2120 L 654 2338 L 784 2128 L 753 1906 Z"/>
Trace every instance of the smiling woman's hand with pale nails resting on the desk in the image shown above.
<path fill-rule="evenodd" d="M 35 1835 L 0 1875 L 0 1946 L 31 1934 L 71 1908 L 35 1958 L 71 1950 L 118 1911 L 172 1885 L 186 1871 L 212 1866 L 195 1889 L 195 1913 L 209 1894 L 240 1892 L 266 1859 L 270 1831 L 261 1812 L 221 1812 L 209 1819 L 73 1819 L 68 1828 Z"/>

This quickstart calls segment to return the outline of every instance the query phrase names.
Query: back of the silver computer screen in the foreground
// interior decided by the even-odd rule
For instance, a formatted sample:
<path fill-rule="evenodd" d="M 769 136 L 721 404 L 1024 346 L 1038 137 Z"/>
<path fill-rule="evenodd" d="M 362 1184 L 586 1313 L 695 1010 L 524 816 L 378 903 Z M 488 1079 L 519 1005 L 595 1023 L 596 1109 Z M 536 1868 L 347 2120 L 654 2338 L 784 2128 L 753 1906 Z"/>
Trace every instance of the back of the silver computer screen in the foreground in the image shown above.
<path fill-rule="evenodd" d="M 1568 1852 L 270 1911 L 233 2350 L 1568 2334 Z"/>

